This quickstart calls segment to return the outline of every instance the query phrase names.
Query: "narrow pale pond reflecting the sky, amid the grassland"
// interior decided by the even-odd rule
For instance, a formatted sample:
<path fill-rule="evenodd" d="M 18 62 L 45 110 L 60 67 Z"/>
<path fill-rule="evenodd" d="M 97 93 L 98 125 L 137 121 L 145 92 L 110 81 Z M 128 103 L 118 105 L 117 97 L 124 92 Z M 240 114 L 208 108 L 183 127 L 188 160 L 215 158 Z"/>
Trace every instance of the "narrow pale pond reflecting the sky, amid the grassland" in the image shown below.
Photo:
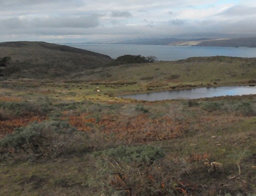
<path fill-rule="evenodd" d="M 219 96 L 235 95 L 255 95 L 256 86 L 222 86 L 203 87 L 184 90 L 171 90 L 152 93 L 129 94 L 120 96 L 122 98 L 132 98 L 138 100 L 165 100 L 165 99 L 192 99 L 192 98 L 212 98 Z"/>

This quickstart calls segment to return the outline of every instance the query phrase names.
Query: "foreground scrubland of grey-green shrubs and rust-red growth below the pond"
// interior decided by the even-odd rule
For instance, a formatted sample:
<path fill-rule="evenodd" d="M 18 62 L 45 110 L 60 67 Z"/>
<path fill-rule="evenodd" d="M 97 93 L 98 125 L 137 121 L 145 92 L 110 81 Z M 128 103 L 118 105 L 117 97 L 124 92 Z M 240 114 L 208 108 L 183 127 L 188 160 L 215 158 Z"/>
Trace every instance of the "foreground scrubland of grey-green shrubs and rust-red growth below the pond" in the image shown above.
<path fill-rule="evenodd" d="M 255 100 L 24 101 L 5 95 L 1 195 L 255 193 Z"/>

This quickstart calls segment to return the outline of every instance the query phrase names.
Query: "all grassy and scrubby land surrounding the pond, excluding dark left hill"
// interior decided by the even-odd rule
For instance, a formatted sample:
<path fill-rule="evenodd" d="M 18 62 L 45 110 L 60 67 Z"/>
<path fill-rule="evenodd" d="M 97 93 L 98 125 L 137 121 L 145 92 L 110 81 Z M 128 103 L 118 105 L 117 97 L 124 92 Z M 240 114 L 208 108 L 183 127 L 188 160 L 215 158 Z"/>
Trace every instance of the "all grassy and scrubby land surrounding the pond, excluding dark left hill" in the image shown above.
<path fill-rule="evenodd" d="M 217 56 L 1 80 L 0 195 L 255 196 L 256 95 L 117 98 L 255 76 Z"/>

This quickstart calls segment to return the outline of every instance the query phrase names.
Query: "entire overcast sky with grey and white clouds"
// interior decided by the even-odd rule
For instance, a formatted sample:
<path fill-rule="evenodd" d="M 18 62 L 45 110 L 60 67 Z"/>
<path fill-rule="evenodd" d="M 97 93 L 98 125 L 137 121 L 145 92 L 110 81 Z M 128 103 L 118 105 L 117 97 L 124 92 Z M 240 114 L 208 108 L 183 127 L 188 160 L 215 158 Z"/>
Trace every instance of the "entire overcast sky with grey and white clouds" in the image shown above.
<path fill-rule="evenodd" d="M 253 36 L 255 0 L 0 0 L 0 42 Z"/>

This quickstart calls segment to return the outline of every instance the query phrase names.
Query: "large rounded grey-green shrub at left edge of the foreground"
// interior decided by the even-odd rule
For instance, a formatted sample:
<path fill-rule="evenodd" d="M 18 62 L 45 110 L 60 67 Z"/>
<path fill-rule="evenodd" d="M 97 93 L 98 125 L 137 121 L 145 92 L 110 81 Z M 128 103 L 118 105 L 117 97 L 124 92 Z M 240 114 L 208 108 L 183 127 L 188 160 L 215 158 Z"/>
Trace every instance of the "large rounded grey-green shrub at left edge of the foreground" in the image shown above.
<path fill-rule="evenodd" d="M 19 127 L 0 141 L 0 148 L 14 148 L 28 158 L 57 157 L 72 145 L 76 129 L 64 122 L 46 121 Z"/>

